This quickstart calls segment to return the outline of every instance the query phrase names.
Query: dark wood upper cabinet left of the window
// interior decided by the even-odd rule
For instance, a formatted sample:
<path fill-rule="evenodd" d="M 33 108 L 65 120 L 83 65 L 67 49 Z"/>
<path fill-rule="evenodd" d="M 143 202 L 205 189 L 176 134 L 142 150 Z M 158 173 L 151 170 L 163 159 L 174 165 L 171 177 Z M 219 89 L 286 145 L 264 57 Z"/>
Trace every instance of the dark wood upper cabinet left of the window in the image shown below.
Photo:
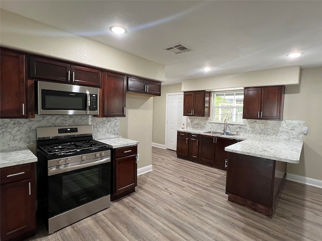
<path fill-rule="evenodd" d="M 209 117 L 210 92 L 209 91 L 184 92 L 183 115 Z"/>

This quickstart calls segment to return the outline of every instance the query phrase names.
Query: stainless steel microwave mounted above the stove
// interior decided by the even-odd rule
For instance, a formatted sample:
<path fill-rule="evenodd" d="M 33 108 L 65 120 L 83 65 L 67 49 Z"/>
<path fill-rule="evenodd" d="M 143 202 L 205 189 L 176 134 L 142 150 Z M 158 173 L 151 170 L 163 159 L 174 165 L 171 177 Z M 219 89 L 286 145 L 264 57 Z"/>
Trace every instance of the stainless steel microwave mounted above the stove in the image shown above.
<path fill-rule="evenodd" d="M 99 113 L 99 88 L 38 81 L 38 114 Z"/>

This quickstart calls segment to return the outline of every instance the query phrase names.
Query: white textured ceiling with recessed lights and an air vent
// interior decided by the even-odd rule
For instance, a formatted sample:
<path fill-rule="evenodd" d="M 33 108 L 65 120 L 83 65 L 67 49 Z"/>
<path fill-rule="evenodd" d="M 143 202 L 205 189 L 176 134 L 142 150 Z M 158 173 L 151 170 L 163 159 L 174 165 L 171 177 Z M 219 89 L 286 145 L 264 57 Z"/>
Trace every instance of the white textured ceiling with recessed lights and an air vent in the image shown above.
<path fill-rule="evenodd" d="M 166 66 L 164 84 L 322 66 L 322 1 L 1 1 L 7 11 Z M 116 36 L 113 25 L 127 29 Z M 164 50 L 181 43 L 193 51 Z M 286 55 L 304 54 L 291 59 Z M 209 66 L 209 72 L 202 68 Z"/>

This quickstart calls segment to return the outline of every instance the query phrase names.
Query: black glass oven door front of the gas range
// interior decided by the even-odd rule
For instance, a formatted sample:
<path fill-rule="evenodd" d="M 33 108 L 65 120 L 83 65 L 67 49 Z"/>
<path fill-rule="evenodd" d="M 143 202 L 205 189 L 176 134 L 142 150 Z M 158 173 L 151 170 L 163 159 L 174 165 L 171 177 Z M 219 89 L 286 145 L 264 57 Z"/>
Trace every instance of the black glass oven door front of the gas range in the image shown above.
<path fill-rule="evenodd" d="M 110 163 L 48 177 L 49 218 L 110 194 Z"/>

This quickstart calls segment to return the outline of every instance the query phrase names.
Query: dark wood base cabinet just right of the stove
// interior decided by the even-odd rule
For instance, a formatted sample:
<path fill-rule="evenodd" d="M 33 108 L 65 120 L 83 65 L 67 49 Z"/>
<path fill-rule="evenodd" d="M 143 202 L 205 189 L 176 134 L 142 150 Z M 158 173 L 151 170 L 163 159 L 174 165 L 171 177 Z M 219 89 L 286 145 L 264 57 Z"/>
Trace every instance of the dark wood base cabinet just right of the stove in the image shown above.
<path fill-rule="evenodd" d="M 136 158 L 137 145 L 113 149 L 112 201 L 135 192 L 137 185 Z"/>

